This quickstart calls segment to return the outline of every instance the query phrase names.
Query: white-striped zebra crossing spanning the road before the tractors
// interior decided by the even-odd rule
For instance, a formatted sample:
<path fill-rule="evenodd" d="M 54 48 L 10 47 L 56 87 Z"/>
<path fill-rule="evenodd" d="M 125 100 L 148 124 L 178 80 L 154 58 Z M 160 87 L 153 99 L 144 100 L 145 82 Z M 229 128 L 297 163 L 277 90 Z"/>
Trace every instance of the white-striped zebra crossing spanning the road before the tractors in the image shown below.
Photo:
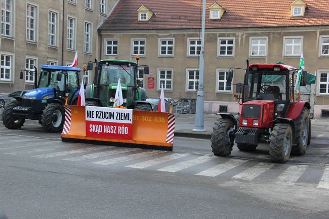
<path fill-rule="evenodd" d="M 193 174 L 200 177 L 225 178 L 238 181 L 268 181 L 277 185 L 298 186 L 308 175 L 310 166 L 296 164 L 275 164 L 253 160 L 242 160 L 213 155 L 176 153 L 139 148 L 114 146 L 94 146 L 72 144 L 59 141 L 35 140 L 24 138 L 0 144 L 0 153 L 12 156 L 29 156 L 35 159 L 59 159 L 67 162 L 81 162 L 90 165 L 120 165 L 125 168 Z M 20 140 L 24 144 L 19 144 Z M 329 167 L 318 169 L 314 182 L 306 184 L 329 189 Z"/>

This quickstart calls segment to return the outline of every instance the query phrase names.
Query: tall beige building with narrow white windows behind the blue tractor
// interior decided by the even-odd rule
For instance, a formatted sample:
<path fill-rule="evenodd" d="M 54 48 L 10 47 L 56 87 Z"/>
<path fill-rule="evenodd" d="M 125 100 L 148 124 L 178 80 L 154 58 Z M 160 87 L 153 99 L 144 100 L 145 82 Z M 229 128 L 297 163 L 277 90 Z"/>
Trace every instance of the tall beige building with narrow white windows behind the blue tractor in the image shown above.
<path fill-rule="evenodd" d="M 98 25 L 117 0 L 0 0 L 0 94 L 33 88 L 29 70 L 99 57 Z M 25 70 L 20 79 L 21 70 Z M 92 75 L 85 72 L 85 82 Z"/>

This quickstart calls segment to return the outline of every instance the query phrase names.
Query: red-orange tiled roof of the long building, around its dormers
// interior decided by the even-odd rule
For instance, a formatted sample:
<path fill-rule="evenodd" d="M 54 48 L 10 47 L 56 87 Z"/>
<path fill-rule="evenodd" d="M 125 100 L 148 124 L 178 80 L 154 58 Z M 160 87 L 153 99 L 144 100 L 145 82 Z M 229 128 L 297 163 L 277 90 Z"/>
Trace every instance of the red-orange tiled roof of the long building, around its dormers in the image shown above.
<path fill-rule="evenodd" d="M 201 26 L 202 0 L 119 0 L 101 24 L 101 30 L 198 29 Z M 209 20 L 207 0 L 205 28 L 264 28 L 291 26 L 329 26 L 329 0 L 304 0 L 302 19 L 292 19 L 293 0 L 217 0 L 226 12 L 220 20 Z M 138 22 L 139 7 L 144 5 L 155 15 Z"/>

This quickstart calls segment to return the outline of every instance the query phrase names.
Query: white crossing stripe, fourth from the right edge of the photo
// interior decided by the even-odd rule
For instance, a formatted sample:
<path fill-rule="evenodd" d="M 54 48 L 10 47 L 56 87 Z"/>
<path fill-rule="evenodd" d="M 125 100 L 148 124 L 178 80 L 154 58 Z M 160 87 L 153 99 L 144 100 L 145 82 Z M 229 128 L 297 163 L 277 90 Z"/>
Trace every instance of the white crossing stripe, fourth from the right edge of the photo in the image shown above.
<path fill-rule="evenodd" d="M 208 169 L 205 169 L 201 172 L 196 173 L 195 175 L 206 176 L 206 177 L 216 177 L 219 174 L 222 174 L 223 172 L 226 172 L 230 169 L 233 169 L 234 167 L 241 165 L 242 163 L 245 163 L 246 161 L 248 161 L 248 160 L 230 159 L 230 160 L 226 161 L 225 163 L 221 163 L 219 165 L 210 167 Z"/>

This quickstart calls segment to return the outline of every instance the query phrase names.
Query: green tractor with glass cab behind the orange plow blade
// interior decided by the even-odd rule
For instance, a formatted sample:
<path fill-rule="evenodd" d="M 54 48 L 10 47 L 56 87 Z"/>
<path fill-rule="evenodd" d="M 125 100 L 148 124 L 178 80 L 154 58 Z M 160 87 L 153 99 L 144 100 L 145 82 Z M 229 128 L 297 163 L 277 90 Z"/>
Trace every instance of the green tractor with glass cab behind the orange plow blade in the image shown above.
<path fill-rule="evenodd" d="M 146 102 L 145 89 L 139 86 L 137 77 L 137 63 L 126 60 L 101 60 L 89 62 L 87 69 L 95 66 L 95 77 L 91 84 L 86 86 L 86 106 L 113 107 L 118 79 L 121 81 L 124 104 L 128 109 L 152 111 L 150 103 Z M 149 67 L 144 66 L 144 74 L 149 74 Z"/>

